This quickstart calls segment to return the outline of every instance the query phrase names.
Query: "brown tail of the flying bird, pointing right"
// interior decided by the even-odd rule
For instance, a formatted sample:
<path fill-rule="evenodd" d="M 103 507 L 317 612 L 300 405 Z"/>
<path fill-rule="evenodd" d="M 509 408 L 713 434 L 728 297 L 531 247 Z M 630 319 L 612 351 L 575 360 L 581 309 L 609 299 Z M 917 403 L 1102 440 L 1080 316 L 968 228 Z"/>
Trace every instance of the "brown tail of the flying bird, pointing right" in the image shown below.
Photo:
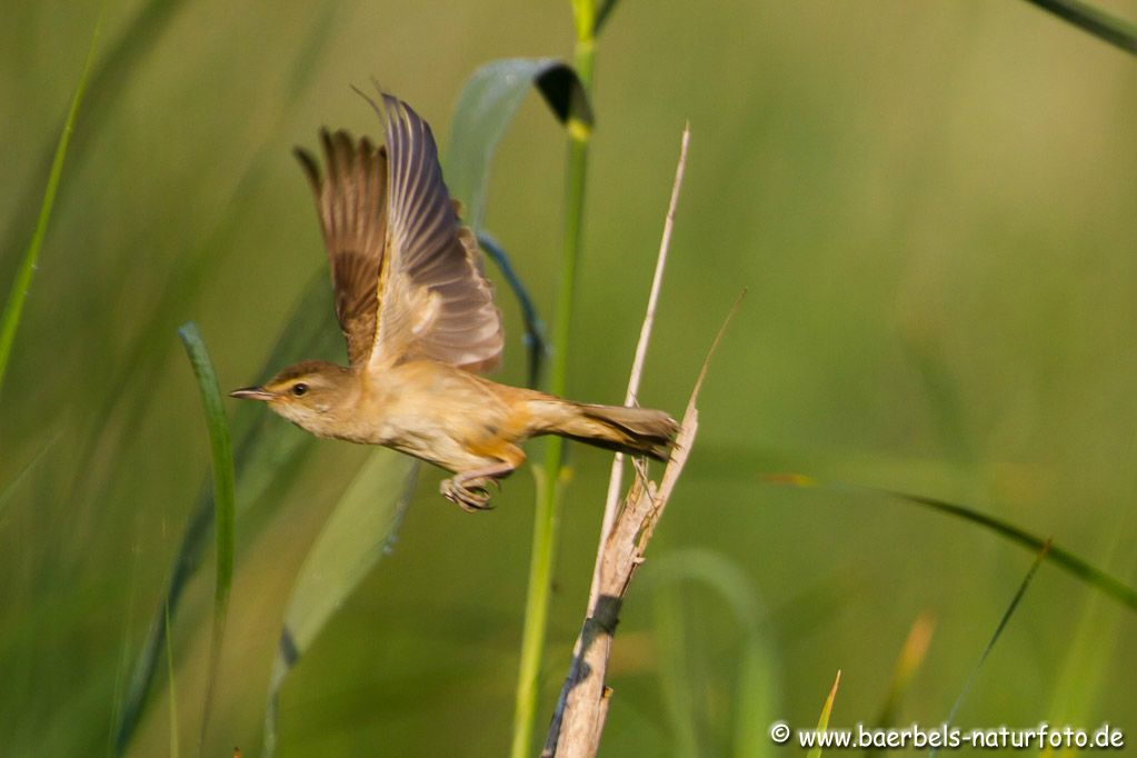
<path fill-rule="evenodd" d="M 591 406 L 546 395 L 533 401 L 537 434 L 558 434 L 607 450 L 666 461 L 679 432 L 662 410 Z"/>

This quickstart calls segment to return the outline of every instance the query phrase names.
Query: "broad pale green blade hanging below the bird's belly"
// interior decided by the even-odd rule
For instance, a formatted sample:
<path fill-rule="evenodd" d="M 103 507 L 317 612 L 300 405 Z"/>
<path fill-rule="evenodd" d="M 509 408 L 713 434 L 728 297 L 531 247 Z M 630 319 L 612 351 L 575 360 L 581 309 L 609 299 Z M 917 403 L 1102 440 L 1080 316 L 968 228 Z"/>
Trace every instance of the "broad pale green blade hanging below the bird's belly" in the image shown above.
<path fill-rule="evenodd" d="M 410 501 L 418 466 L 393 450 L 376 450 L 364 464 L 297 575 L 284 613 L 265 709 L 264 755 L 276 748 L 281 688 L 289 672 L 359 582 L 390 551 Z"/>

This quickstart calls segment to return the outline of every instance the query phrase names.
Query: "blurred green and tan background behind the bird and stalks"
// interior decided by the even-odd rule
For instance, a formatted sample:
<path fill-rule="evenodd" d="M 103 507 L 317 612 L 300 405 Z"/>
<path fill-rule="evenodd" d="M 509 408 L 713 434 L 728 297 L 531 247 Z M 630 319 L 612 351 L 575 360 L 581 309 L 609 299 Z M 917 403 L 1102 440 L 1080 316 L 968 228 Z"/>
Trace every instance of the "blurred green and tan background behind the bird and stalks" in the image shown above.
<path fill-rule="evenodd" d="M 1137 17 L 1137 3 L 1099 5 Z M 5 292 L 97 16 L 85 0 L 6 6 Z M 325 265 L 292 145 L 314 144 L 322 125 L 376 135 L 349 89 L 375 76 L 445 151 L 474 68 L 568 57 L 573 39 L 563 0 L 111 0 L 100 60 L 139 19 L 118 75 L 80 119 L 0 397 L 5 755 L 110 751 L 116 702 L 208 472 L 176 327 L 200 325 L 224 389 L 262 380 Z M 921 614 L 935 634 L 899 718 L 938 724 L 1031 560 L 885 497 L 763 474 L 968 503 L 1137 583 L 1131 58 L 1027 3 L 625 0 L 600 38 L 595 109 L 572 395 L 623 397 L 687 119 L 641 402 L 681 410 L 749 288 L 625 606 L 604 753 L 762 755 L 774 718 L 816 720 L 838 668 L 833 723 L 871 723 Z M 546 316 L 564 143 L 530 97 L 499 148 L 487 216 Z M 512 335 L 497 378 L 523 383 L 516 303 L 497 281 Z M 283 422 L 274 432 L 300 434 Z M 288 486 L 260 520 L 239 524 L 208 755 L 257 752 L 289 589 L 365 452 L 319 442 L 281 473 Z M 572 456 L 540 730 L 583 611 L 609 466 L 596 450 Z M 395 551 L 285 685 L 281 755 L 506 751 L 533 480 L 518 473 L 497 510 L 471 516 L 439 498 L 440 478 L 423 472 Z M 675 578 L 708 565 L 731 569 L 715 574 L 728 577 L 717 590 Z M 190 752 L 210 583 L 200 572 L 173 628 Z M 745 599 L 749 631 L 724 592 Z M 761 651 L 756 678 L 741 673 L 746 649 Z M 1131 741 L 1135 670 L 1134 614 L 1046 565 L 958 723 L 1109 720 Z M 757 705 L 740 708 L 752 702 L 740 689 Z M 131 755 L 168 750 L 167 697 L 161 676 Z"/>

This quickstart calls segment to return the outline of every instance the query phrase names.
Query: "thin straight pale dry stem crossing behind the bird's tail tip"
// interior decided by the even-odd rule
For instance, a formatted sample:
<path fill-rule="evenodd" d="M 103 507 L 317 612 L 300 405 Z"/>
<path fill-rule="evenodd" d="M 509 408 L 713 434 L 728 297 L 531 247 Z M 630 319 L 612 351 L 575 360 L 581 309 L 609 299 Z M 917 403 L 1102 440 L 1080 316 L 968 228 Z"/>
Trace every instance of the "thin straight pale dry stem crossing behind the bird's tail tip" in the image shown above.
<path fill-rule="evenodd" d="M 644 374 L 644 361 L 647 358 L 647 345 L 652 341 L 652 327 L 655 326 L 655 309 L 659 302 L 659 290 L 663 285 L 663 268 L 667 264 L 667 251 L 671 249 L 671 230 L 675 225 L 675 207 L 679 205 L 679 191 L 683 185 L 683 174 L 687 170 L 687 145 L 691 141 L 691 125 L 683 126 L 683 136 L 679 143 L 679 163 L 675 165 L 675 181 L 671 185 L 671 201 L 667 203 L 667 215 L 663 220 L 663 238 L 659 240 L 659 252 L 655 259 L 655 274 L 652 276 L 652 292 L 647 299 L 647 313 L 640 327 L 639 343 L 636 345 L 636 357 L 632 359 L 632 372 L 628 378 L 628 394 L 624 405 L 637 405 L 640 377 Z M 592 586 L 588 593 L 589 613 L 596 606 L 600 586 L 600 556 L 604 543 L 612 533 L 620 505 L 620 490 L 623 488 L 624 453 L 617 452 L 612 460 L 612 475 L 608 477 L 608 497 L 604 502 L 604 520 L 600 523 L 600 539 L 596 548 L 596 570 L 592 572 Z"/>

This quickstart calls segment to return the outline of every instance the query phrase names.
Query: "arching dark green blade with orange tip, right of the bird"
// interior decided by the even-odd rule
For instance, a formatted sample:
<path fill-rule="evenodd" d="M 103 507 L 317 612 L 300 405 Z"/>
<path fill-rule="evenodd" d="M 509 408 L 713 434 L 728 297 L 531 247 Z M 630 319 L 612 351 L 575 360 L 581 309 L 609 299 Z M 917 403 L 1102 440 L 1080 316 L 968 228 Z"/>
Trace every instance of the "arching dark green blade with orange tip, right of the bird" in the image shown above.
<path fill-rule="evenodd" d="M 886 490 L 871 486 L 861 486 L 856 484 L 848 484 L 845 482 L 831 482 L 825 483 L 820 480 L 815 480 L 811 476 L 805 476 L 802 474 L 775 474 L 771 476 L 765 476 L 765 481 L 775 484 L 789 484 L 791 486 L 807 488 L 807 486 L 825 486 L 832 490 L 845 490 L 858 493 L 873 493 L 873 494 L 886 494 L 896 500 L 903 502 L 908 502 L 918 506 L 924 506 L 931 508 L 932 510 L 938 510 L 939 513 L 947 514 L 949 516 L 955 516 L 972 524 L 978 524 L 995 534 L 1006 538 L 1011 542 L 1020 544 L 1032 551 L 1041 550 L 1044 547 L 1048 545 L 1046 556 L 1054 561 L 1057 566 L 1078 577 L 1086 584 L 1097 588 L 1102 592 L 1106 593 L 1114 600 L 1127 606 L 1130 610 L 1137 610 L 1137 590 L 1128 586 L 1117 577 L 1106 574 L 1104 570 L 1097 568 L 1093 564 L 1086 561 L 1085 559 L 1076 556 L 1074 553 L 1060 548 L 1056 544 L 1052 544 L 1049 540 L 1044 540 L 1026 530 L 1015 526 L 1009 522 L 1004 522 L 994 516 L 980 513 L 968 506 L 961 506 L 954 502 L 947 502 L 946 500 L 939 500 L 937 498 L 928 498 L 920 494 L 911 494 L 907 492 L 897 492 L 895 490 Z"/>

